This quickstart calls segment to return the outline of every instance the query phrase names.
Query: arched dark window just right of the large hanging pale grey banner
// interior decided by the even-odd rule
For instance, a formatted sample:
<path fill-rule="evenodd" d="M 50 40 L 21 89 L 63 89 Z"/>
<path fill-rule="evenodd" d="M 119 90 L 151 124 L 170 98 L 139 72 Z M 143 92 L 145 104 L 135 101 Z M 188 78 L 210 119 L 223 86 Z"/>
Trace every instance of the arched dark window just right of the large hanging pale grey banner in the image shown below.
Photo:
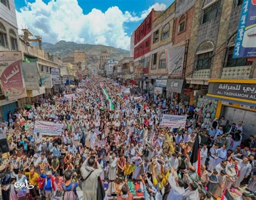
<path fill-rule="evenodd" d="M 197 49 L 197 70 L 210 69 L 214 45 L 211 41 L 203 42 Z"/>

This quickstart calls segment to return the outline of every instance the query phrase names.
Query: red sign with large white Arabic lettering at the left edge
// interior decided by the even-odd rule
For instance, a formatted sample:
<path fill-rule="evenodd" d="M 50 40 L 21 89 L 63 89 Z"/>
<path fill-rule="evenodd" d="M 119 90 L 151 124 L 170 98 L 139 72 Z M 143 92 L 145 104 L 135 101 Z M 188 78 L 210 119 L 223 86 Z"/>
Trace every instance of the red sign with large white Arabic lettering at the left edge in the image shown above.
<path fill-rule="evenodd" d="M 1 75 L 4 96 L 18 97 L 25 92 L 22 78 L 21 61 L 15 61 L 3 70 Z"/>

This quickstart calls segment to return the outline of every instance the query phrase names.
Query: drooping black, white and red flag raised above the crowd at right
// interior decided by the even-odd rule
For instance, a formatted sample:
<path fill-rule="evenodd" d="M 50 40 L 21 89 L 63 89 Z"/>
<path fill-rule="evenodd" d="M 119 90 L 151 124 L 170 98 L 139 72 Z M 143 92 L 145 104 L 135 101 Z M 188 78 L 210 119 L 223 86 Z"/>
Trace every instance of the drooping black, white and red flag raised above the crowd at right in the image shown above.
<path fill-rule="evenodd" d="M 197 133 L 196 140 L 194 141 L 192 154 L 190 157 L 191 165 L 196 167 L 197 173 L 200 176 L 200 168 L 201 168 L 201 162 L 200 162 L 200 146 L 199 146 L 199 135 Z"/>

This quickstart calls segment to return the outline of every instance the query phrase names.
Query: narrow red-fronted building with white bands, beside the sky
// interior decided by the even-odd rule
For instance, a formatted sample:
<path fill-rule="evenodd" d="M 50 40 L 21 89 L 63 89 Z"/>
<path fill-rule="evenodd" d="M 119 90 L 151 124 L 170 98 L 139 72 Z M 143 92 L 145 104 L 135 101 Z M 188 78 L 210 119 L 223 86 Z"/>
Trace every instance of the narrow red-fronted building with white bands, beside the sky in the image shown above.
<path fill-rule="evenodd" d="M 149 74 L 149 61 L 151 51 L 152 23 L 162 12 L 151 10 L 134 31 L 134 80 L 142 85 L 143 75 Z M 133 46 L 133 40 L 132 45 Z"/>

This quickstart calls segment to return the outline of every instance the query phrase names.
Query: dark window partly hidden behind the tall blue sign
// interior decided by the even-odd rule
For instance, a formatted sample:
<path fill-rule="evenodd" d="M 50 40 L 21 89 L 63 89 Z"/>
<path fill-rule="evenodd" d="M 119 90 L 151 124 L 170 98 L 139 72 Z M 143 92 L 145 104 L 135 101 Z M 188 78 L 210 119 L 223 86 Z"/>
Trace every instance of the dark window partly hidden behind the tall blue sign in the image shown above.
<path fill-rule="evenodd" d="M 247 58 L 233 58 L 234 47 L 228 48 L 227 62 L 224 67 L 239 67 L 252 65 L 251 61 L 247 61 Z"/>

